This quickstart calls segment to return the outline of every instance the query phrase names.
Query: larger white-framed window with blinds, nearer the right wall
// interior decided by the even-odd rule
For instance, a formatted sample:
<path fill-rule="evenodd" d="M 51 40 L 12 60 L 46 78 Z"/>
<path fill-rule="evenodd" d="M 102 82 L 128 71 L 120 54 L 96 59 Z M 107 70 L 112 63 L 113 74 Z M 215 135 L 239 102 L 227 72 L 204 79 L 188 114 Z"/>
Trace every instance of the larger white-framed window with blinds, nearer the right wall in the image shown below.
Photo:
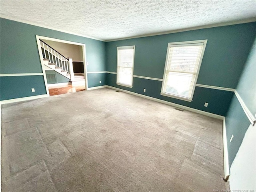
<path fill-rule="evenodd" d="M 168 43 L 161 95 L 192 101 L 206 42 Z"/>

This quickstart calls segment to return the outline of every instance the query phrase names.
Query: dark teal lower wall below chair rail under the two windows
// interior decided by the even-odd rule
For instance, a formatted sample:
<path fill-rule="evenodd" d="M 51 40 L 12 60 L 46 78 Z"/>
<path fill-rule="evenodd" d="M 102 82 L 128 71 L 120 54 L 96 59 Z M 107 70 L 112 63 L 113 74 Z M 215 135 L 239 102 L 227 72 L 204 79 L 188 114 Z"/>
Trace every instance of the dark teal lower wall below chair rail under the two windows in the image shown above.
<path fill-rule="evenodd" d="M 210 112 L 210 113 L 214 113 L 222 116 L 226 115 L 226 112 L 228 111 L 228 107 L 230 105 L 230 101 L 234 94 L 233 92 L 230 92 L 230 91 L 196 87 L 193 101 L 187 102 L 187 101 L 183 101 L 175 98 L 161 96 L 160 92 L 162 87 L 162 81 L 148 80 L 148 79 L 134 77 L 133 87 L 128 88 L 128 87 L 120 86 L 116 84 L 116 74 L 107 74 L 107 83 L 109 86 L 113 86 L 116 88 L 128 90 L 138 94 L 158 98 L 168 102 L 188 106 L 191 108 L 195 108 L 198 110 L 202 110 L 202 111 L 206 111 L 206 112 Z M 146 89 L 146 92 L 143 92 L 144 88 Z M 204 107 L 205 102 L 209 103 L 208 107 Z"/>

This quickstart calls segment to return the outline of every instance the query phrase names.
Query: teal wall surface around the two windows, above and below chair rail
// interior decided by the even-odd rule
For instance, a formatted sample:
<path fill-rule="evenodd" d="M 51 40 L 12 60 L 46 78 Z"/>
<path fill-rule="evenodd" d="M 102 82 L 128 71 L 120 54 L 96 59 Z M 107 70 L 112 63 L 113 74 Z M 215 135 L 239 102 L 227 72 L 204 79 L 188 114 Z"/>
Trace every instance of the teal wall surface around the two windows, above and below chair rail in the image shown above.
<path fill-rule="evenodd" d="M 208 39 L 197 84 L 236 88 L 255 34 L 256 23 L 253 22 L 107 42 L 107 70 L 116 72 L 118 46 L 135 45 L 134 75 L 162 79 L 168 42 Z M 107 74 L 107 84 L 222 116 L 226 115 L 233 96 L 228 91 L 196 87 L 193 101 L 186 102 L 161 96 L 160 81 L 133 78 L 133 88 L 118 86 L 115 74 Z M 207 108 L 204 102 L 209 103 Z"/>

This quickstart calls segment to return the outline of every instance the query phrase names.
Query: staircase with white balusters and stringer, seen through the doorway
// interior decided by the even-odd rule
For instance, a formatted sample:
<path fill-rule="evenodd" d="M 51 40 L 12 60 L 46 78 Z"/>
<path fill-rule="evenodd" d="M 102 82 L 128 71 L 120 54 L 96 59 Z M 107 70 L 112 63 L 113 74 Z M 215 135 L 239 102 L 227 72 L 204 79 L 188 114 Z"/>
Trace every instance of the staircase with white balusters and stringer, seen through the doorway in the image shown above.
<path fill-rule="evenodd" d="M 72 58 L 66 58 L 54 48 L 40 40 L 45 68 L 51 68 L 64 77 L 74 81 Z"/>

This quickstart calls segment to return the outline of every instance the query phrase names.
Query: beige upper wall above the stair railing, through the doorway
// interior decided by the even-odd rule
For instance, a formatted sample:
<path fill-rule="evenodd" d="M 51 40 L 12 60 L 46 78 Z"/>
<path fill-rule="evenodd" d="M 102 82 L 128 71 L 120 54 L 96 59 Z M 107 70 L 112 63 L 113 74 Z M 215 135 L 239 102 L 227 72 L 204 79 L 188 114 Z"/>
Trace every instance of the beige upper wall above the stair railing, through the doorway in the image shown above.
<path fill-rule="evenodd" d="M 60 54 L 65 56 L 66 58 L 73 58 L 74 61 L 83 61 L 83 49 L 82 46 L 73 45 L 68 43 L 43 40 L 46 44 L 50 45 Z"/>

